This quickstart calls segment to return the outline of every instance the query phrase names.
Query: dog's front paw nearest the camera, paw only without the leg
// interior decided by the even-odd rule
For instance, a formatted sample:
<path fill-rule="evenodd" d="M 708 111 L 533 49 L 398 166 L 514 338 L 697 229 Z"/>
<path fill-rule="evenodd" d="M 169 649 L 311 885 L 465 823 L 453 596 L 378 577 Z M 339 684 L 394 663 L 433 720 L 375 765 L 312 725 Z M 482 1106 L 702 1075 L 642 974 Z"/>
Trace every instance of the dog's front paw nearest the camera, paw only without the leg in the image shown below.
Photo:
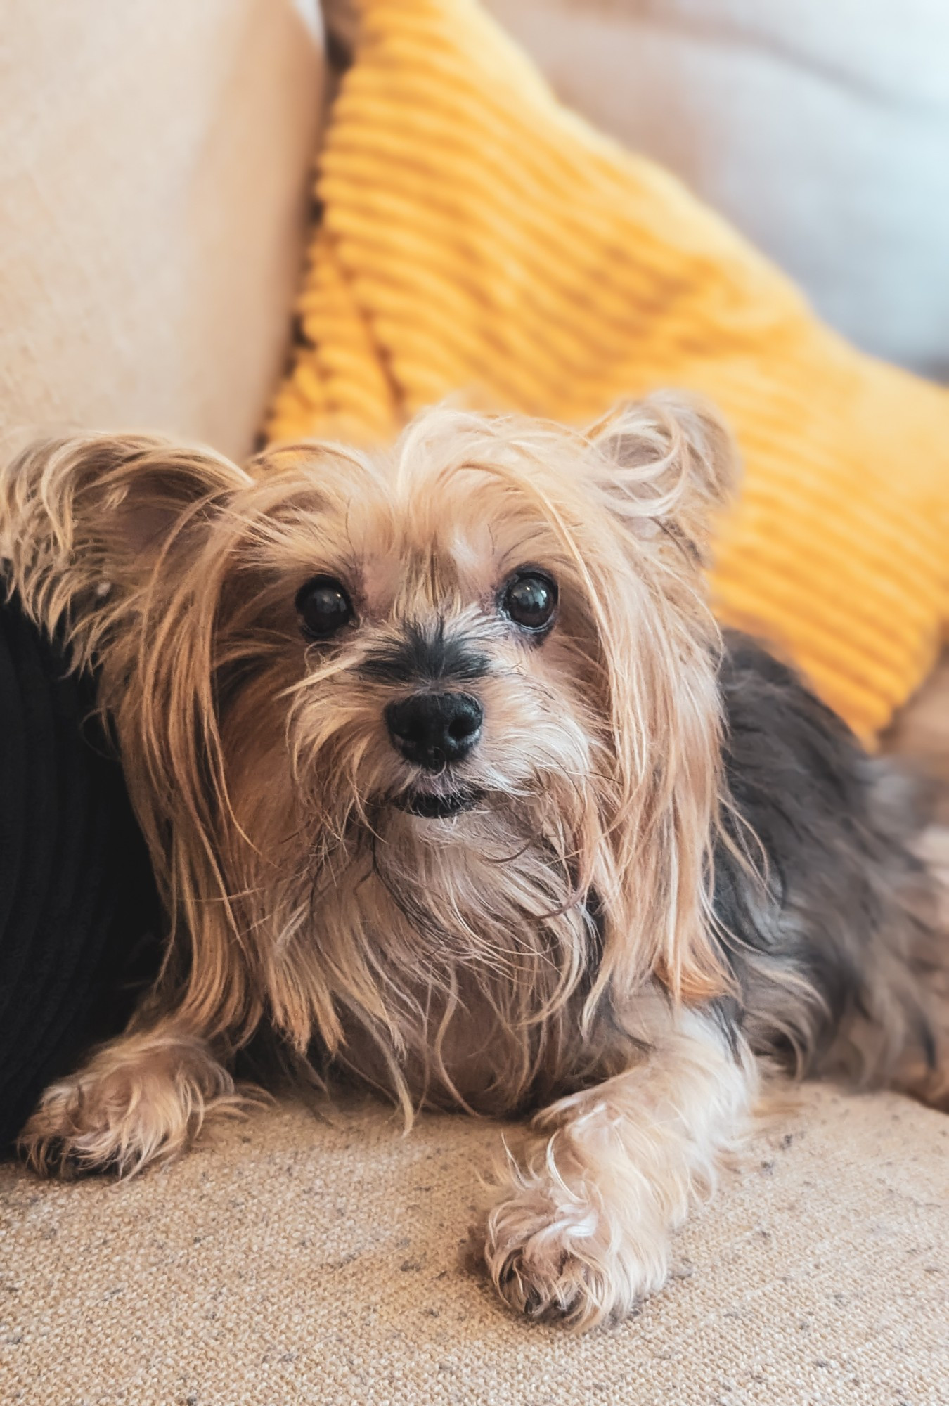
<path fill-rule="evenodd" d="M 595 1187 L 522 1175 L 488 1215 L 488 1272 L 519 1313 L 575 1330 L 627 1317 L 666 1277 L 668 1236 Z"/>

